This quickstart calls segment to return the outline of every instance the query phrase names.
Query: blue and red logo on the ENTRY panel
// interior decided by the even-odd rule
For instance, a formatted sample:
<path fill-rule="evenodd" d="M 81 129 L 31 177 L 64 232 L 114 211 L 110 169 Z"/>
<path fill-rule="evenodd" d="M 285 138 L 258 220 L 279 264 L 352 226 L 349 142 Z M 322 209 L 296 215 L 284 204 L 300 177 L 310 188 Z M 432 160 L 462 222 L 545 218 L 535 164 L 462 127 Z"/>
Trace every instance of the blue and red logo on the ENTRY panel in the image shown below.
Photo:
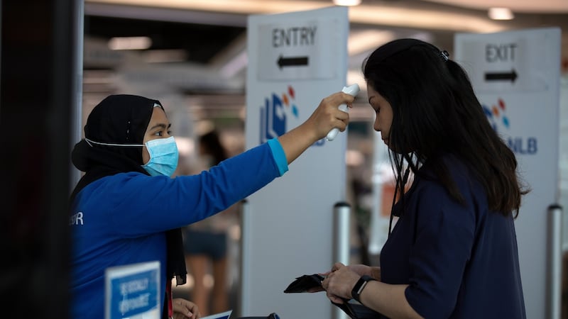
<path fill-rule="evenodd" d="M 295 99 L 292 86 L 288 86 L 288 91 L 282 96 L 272 93 L 270 98 L 264 99 L 264 106 L 261 106 L 261 144 L 286 133 L 289 116 L 298 118 Z"/>

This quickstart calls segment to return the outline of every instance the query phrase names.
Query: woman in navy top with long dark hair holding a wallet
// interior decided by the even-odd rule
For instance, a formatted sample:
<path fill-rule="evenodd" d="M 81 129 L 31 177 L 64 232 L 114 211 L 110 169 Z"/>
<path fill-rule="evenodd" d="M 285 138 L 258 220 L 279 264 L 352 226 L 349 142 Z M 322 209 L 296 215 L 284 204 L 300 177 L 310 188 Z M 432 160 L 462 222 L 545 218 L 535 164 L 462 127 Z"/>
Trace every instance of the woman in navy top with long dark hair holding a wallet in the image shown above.
<path fill-rule="evenodd" d="M 381 267 L 334 264 L 328 298 L 376 318 L 526 318 L 514 219 L 527 190 L 464 70 L 400 39 L 371 53 L 363 74 L 398 194 L 414 178 L 393 205 Z"/>

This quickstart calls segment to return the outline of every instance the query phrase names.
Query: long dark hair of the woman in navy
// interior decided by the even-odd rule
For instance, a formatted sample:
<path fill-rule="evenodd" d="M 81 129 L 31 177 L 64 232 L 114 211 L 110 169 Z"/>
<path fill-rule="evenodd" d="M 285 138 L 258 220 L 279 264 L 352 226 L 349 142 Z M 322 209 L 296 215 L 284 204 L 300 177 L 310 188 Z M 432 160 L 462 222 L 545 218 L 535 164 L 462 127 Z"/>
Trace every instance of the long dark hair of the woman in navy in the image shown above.
<path fill-rule="evenodd" d="M 520 184 L 515 155 L 488 122 L 466 72 L 447 52 L 421 40 L 394 40 L 372 52 L 362 71 L 393 108 L 389 157 L 400 194 L 404 162 L 420 176 L 418 169 L 429 159 L 444 188 L 464 203 L 444 161 L 437 160 L 452 154 L 479 177 L 491 211 L 518 216 L 521 196 L 529 190 Z"/>

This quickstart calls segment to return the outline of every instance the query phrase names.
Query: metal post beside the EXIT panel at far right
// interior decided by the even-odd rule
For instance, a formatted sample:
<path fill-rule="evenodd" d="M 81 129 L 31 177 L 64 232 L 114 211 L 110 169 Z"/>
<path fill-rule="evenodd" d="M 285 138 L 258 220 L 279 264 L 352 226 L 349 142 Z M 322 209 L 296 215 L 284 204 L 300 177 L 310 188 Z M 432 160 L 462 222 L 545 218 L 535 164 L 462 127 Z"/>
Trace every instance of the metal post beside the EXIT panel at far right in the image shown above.
<path fill-rule="evenodd" d="M 548 206 L 547 318 L 559 319 L 562 310 L 562 207 Z"/>

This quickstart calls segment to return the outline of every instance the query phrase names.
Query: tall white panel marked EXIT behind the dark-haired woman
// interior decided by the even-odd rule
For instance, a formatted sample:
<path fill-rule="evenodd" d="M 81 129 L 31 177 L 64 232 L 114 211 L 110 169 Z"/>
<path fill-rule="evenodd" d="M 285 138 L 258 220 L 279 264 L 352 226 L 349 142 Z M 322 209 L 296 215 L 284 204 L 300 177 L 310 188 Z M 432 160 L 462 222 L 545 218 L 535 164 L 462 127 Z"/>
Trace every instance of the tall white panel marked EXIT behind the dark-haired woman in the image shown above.
<path fill-rule="evenodd" d="M 559 28 L 537 28 L 460 33 L 454 41 L 454 60 L 468 72 L 488 120 L 515 152 L 521 180 L 532 189 L 515 220 L 527 318 L 547 318 L 547 208 L 558 199 L 560 39 Z"/>

